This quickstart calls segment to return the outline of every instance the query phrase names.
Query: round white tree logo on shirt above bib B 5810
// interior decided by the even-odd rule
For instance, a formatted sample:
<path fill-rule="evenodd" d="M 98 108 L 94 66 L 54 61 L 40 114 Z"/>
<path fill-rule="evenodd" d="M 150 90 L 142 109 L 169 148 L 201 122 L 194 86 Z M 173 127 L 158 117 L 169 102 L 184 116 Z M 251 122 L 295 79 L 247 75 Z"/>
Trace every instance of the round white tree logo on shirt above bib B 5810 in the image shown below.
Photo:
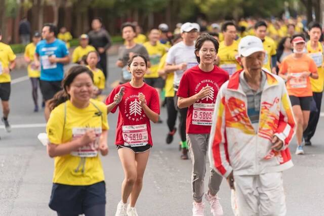
<path fill-rule="evenodd" d="M 146 100 L 145 100 L 146 104 Z M 142 107 L 138 99 L 138 95 L 131 95 L 125 100 L 125 114 L 129 120 L 139 121 L 145 118 L 145 113 L 142 113 Z"/>

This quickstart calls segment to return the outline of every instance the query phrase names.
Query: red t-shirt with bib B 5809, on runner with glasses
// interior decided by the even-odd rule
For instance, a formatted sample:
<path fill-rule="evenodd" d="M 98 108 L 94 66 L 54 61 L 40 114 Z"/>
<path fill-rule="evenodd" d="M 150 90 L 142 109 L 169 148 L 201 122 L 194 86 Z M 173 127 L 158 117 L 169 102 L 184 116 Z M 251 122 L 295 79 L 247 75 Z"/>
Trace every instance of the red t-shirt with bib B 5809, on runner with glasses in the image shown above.
<path fill-rule="evenodd" d="M 214 66 L 214 69 L 210 72 L 204 72 L 197 65 L 183 74 L 177 92 L 178 97 L 189 98 L 207 85 L 212 87 L 212 91 L 206 98 L 196 101 L 188 108 L 187 134 L 210 133 L 216 97 L 221 85 L 228 79 L 228 73 L 217 66 Z"/>

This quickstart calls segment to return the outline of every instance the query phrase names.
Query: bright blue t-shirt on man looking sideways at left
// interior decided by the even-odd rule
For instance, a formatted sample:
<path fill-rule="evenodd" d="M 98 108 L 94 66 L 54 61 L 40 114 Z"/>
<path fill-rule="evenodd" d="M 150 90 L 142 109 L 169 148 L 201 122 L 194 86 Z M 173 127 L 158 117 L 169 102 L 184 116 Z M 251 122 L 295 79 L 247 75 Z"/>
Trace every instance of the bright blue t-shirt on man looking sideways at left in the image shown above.
<path fill-rule="evenodd" d="M 46 40 L 41 40 L 36 45 L 35 52 L 39 55 L 39 61 L 41 62 L 41 80 L 61 81 L 64 76 L 63 64 L 51 64 L 48 58 L 49 56 L 63 58 L 69 55 L 65 42 L 55 39 L 54 42 L 48 44 Z"/>

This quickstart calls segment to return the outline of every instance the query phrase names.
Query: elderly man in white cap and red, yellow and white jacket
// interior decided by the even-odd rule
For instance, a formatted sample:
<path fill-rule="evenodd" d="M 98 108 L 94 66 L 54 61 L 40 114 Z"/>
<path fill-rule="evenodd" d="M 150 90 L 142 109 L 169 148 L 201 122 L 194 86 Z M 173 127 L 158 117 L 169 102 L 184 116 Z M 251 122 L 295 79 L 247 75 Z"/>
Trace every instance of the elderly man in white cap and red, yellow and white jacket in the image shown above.
<path fill-rule="evenodd" d="M 286 215 L 282 171 L 293 166 L 296 124 L 285 82 L 262 69 L 260 38 L 242 38 L 238 53 L 244 69 L 218 92 L 209 159 L 233 190 L 235 215 Z"/>

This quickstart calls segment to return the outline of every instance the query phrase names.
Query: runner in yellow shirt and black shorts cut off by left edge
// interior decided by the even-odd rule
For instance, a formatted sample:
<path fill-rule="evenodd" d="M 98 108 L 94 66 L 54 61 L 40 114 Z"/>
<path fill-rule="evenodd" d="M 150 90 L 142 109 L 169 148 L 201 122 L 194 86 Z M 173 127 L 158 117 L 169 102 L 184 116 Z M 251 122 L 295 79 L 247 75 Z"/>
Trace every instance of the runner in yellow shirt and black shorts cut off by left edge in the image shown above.
<path fill-rule="evenodd" d="M 2 34 L 0 30 L 0 41 L 2 39 Z M 10 84 L 11 77 L 10 72 L 16 66 L 16 55 L 12 51 L 9 45 L 0 42 L 0 99 L 3 108 L 2 121 L 5 124 L 5 129 L 7 132 L 11 132 L 11 126 L 8 122 L 9 115 L 9 98 L 10 98 Z"/>

